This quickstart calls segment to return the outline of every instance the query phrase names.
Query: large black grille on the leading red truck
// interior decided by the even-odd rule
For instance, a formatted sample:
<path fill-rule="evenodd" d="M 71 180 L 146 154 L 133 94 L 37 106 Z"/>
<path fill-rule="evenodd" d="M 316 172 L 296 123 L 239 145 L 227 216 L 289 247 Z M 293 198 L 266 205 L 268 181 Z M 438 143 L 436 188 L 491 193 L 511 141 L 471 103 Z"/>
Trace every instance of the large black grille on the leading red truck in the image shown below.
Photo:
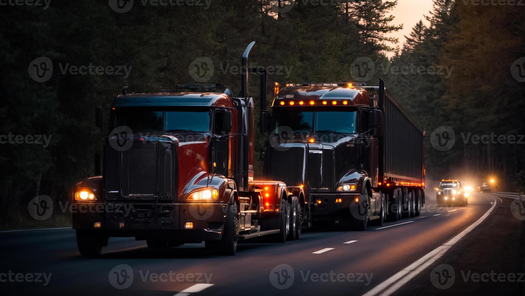
<path fill-rule="evenodd" d="M 165 142 L 134 142 L 130 149 L 108 148 L 106 192 L 108 200 L 173 198 L 174 151 Z"/>

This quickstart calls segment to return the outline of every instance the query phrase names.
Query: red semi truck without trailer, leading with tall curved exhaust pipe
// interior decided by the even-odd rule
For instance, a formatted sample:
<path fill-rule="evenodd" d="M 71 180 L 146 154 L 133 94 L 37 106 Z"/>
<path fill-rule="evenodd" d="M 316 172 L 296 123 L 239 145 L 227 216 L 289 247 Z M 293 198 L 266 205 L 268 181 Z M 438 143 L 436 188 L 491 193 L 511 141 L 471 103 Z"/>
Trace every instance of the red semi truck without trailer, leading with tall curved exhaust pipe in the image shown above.
<path fill-rule="evenodd" d="M 255 42 L 246 48 L 248 69 Z M 241 74 L 234 97 L 220 84 L 115 98 L 101 176 L 79 182 L 72 200 L 104 211 L 72 214 L 81 255 L 99 255 L 109 237 L 135 237 L 149 247 L 205 242 L 234 255 L 239 239 L 298 239 L 305 203 L 300 184 L 254 180 L 254 100 L 249 72 L 260 75 L 266 109 L 266 69 Z M 186 91 L 184 91 L 186 90 Z M 96 123 L 102 126 L 102 107 Z M 302 204 L 300 204 L 302 202 Z"/>

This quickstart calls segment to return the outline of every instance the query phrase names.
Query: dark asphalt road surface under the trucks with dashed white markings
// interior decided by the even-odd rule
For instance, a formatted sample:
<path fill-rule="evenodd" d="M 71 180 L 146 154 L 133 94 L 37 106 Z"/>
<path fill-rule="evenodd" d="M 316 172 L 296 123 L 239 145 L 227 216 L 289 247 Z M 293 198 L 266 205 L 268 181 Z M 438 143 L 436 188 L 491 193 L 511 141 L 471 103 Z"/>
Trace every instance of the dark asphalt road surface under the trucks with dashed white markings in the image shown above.
<path fill-rule="evenodd" d="M 491 202 L 501 204 L 474 193 L 466 207 L 436 207 L 428 195 L 421 217 L 383 225 L 391 227 L 336 225 L 285 244 L 243 243 L 229 257 L 204 244 L 149 249 L 110 238 L 99 258 L 83 258 L 71 228 L 2 232 L 0 288 L 4 295 L 361 295 L 464 231 Z"/>

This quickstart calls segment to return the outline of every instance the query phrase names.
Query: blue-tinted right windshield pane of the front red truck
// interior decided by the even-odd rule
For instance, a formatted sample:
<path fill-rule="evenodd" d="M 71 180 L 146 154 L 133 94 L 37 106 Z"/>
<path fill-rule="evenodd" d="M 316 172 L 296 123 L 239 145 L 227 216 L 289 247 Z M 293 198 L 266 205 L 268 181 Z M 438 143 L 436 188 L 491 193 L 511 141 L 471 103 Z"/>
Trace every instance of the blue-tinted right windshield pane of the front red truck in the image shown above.
<path fill-rule="evenodd" d="M 167 111 L 166 131 L 191 130 L 198 133 L 209 131 L 209 111 Z"/>

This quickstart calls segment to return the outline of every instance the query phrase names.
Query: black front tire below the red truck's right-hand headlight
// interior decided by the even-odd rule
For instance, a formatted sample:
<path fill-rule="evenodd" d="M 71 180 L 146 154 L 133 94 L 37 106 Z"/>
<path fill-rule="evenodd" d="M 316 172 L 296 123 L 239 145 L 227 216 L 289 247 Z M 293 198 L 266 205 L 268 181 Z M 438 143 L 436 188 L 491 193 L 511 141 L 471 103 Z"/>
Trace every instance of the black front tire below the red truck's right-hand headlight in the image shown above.
<path fill-rule="evenodd" d="M 219 255 L 233 256 L 239 242 L 239 211 L 234 202 L 228 207 L 223 237 L 220 240 L 207 240 L 206 249 L 216 251 Z"/>

